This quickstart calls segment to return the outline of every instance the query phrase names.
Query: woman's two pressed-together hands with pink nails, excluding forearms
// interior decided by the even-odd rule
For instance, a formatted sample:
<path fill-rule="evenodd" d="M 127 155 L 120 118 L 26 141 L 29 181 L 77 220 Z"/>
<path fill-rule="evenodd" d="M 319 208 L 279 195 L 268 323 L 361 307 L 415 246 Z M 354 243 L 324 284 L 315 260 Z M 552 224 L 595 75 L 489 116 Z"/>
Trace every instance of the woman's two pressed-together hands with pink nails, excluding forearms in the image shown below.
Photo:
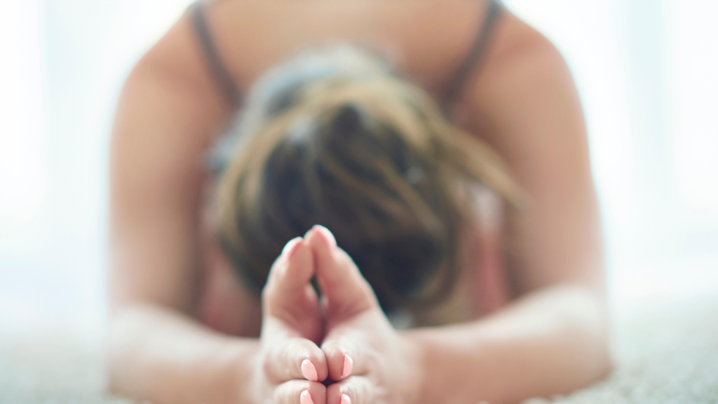
<path fill-rule="evenodd" d="M 310 281 L 316 276 L 321 302 Z M 414 403 L 421 354 L 322 226 L 286 244 L 262 293 L 251 403 Z"/>

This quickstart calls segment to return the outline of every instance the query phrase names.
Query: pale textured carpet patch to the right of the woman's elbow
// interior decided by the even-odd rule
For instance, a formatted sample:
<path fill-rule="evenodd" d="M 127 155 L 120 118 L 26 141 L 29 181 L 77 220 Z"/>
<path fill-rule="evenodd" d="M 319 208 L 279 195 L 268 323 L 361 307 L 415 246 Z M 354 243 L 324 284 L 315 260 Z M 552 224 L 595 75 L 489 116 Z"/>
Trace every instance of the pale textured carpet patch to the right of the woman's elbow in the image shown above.
<path fill-rule="evenodd" d="M 613 331 L 610 377 L 524 404 L 718 404 L 718 296 L 630 308 Z"/>

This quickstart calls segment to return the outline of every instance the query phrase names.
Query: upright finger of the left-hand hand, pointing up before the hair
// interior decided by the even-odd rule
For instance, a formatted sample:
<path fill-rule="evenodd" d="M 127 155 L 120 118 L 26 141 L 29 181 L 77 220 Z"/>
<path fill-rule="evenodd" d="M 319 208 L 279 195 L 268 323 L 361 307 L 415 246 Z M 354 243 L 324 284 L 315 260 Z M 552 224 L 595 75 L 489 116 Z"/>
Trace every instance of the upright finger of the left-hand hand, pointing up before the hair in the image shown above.
<path fill-rule="evenodd" d="M 302 237 L 292 239 L 269 271 L 267 284 L 262 291 L 264 312 L 271 316 L 275 311 L 291 309 L 298 298 L 302 301 L 314 300 L 316 303 L 316 293 L 307 290 L 313 275 L 312 250 Z"/>

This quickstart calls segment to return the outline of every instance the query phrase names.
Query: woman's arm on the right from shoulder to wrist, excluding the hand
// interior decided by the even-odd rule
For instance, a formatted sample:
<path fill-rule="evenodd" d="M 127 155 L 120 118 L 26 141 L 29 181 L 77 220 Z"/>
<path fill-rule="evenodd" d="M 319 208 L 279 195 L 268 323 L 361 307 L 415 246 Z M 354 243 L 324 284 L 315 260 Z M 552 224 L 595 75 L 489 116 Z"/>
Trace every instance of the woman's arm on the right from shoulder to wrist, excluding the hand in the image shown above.
<path fill-rule="evenodd" d="M 427 403 L 516 403 L 569 392 L 610 369 L 600 219 L 579 98 L 550 42 L 510 14 L 499 27 L 463 117 L 505 157 L 528 196 L 506 234 L 519 298 L 475 323 L 406 334 L 426 354 Z"/>

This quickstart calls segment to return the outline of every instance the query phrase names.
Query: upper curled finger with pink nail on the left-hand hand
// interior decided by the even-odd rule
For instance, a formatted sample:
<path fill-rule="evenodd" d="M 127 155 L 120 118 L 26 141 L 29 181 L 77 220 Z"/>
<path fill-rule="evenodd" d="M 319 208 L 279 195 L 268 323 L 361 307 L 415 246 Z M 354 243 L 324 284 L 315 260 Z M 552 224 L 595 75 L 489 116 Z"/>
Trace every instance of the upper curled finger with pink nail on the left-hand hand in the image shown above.
<path fill-rule="evenodd" d="M 274 383 L 294 379 L 322 382 L 328 374 L 322 349 L 309 339 L 299 337 L 270 343 L 263 365 L 267 379 Z"/>

